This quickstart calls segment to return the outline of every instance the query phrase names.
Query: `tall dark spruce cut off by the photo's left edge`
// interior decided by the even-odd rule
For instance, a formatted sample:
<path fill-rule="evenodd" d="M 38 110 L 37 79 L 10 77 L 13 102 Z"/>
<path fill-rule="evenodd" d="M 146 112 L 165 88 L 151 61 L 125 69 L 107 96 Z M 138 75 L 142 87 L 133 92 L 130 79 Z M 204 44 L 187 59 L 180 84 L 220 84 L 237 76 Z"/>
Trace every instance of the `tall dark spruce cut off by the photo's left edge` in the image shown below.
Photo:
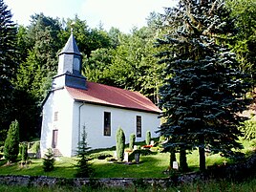
<path fill-rule="evenodd" d="M 11 123 L 11 78 L 15 75 L 16 25 L 11 21 L 11 11 L 0 0 L 0 141 L 5 139 L 4 130 Z M 3 137 L 3 138 L 2 138 Z"/>

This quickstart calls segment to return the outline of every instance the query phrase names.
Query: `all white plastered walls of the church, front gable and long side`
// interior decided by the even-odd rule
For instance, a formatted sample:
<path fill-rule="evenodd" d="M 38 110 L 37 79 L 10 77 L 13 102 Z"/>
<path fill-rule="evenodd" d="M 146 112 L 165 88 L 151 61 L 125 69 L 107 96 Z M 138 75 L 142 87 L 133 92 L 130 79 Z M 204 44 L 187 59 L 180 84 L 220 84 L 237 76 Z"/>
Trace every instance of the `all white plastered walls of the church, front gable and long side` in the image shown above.
<path fill-rule="evenodd" d="M 54 112 L 58 112 L 54 121 Z M 111 113 L 111 136 L 104 136 L 104 112 Z M 121 127 L 125 134 L 125 142 L 130 135 L 137 132 L 137 119 L 141 117 L 141 138 L 145 140 L 146 132 L 150 131 L 152 138 L 158 137 L 155 131 L 160 127 L 158 114 L 132 111 L 127 109 L 100 106 L 95 104 L 75 102 L 66 89 L 52 92 L 43 106 L 43 121 L 41 130 L 41 155 L 47 148 L 52 148 L 53 130 L 58 130 L 56 148 L 64 157 L 75 156 L 78 136 L 81 136 L 83 126 L 87 133 L 87 143 L 92 149 L 116 146 L 117 128 Z"/>

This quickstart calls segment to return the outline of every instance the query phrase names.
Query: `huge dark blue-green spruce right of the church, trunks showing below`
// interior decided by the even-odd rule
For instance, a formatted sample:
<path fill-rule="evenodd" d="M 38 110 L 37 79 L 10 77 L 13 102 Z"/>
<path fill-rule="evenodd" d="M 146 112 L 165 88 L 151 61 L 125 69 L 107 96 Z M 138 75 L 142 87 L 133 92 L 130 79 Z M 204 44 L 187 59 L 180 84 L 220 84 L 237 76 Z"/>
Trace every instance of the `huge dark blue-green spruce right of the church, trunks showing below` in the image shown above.
<path fill-rule="evenodd" d="M 199 149 L 200 169 L 205 169 L 205 147 L 225 156 L 242 148 L 237 141 L 245 109 L 245 77 L 236 68 L 236 55 L 222 40 L 232 35 L 224 0 L 181 0 L 163 15 L 170 29 L 158 45 L 166 64 L 160 89 L 160 107 L 166 121 L 160 135 L 168 138 L 166 151 L 181 153 L 181 170 L 187 167 L 185 151 Z"/>

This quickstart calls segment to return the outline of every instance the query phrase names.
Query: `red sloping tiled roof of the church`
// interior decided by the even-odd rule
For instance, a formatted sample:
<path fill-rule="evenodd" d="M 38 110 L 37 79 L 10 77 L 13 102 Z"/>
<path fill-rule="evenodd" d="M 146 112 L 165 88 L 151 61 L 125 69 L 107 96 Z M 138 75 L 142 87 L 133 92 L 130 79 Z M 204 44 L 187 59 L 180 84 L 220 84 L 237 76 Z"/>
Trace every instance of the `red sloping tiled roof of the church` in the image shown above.
<path fill-rule="evenodd" d="M 87 81 L 87 90 L 66 87 L 69 94 L 78 101 L 110 105 L 114 107 L 160 113 L 160 109 L 146 96 L 138 92 L 119 89 Z"/>

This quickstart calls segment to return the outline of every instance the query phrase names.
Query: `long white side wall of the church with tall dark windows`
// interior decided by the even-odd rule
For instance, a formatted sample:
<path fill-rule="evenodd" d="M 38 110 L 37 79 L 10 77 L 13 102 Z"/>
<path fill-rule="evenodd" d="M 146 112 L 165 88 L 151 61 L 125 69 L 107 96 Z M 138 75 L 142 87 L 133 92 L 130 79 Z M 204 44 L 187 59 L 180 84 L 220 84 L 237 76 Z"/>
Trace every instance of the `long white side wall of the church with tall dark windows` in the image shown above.
<path fill-rule="evenodd" d="M 111 136 L 103 135 L 104 112 L 111 113 Z M 116 133 L 119 126 L 124 131 L 126 140 L 125 142 L 129 142 L 130 135 L 132 133 L 136 134 L 137 132 L 137 116 L 141 117 L 141 138 L 136 138 L 136 141 L 145 140 L 145 135 L 148 130 L 151 132 L 152 138 L 158 137 L 158 135 L 155 133 L 155 131 L 157 131 L 160 127 L 160 118 L 158 118 L 158 114 L 113 108 L 108 106 L 100 106 L 88 103 L 82 104 L 75 102 L 73 126 L 77 129 L 78 127 L 80 127 L 80 132 L 83 129 L 83 126 L 85 126 L 89 147 L 92 147 L 93 149 L 106 148 L 116 145 Z M 73 155 L 75 155 L 75 151 L 77 149 L 78 134 L 78 130 L 75 131 L 74 129 Z"/>

